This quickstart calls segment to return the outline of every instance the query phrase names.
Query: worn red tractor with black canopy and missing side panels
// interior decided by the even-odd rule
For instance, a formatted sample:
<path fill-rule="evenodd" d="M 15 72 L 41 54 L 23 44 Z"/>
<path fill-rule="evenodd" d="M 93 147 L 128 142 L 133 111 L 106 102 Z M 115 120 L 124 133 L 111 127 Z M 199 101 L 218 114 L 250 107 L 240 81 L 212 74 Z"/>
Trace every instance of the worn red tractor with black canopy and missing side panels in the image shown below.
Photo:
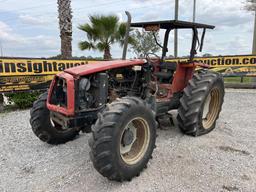
<path fill-rule="evenodd" d="M 99 173 L 110 180 L 138 176 L 155 148 L 158 120 L 178 109 L 178 125 L 199 136 L 215 128 L 224 97 L 223 78 L 209 66 L 194 62 L 202 50 L 206 29 L 214 26 L 168 20 L 131 23 L 128 15 L 123 60 L 87 64 L 57 74 L 47 93 L 35 101 L 30 123 L 37 137 L 49 144 L 92 132 L 90 157 Z M 125 60 L 131 27 L 165 30 L 162 56 Z M 192 29 L 187 62 L 165 61 L 173 29 Z M 198 29 L 202 30 L 199 40 Z M 153 55 L 153 57 L 150 57 Z M 196 69 L 197 68 L 197 69 Z"/>

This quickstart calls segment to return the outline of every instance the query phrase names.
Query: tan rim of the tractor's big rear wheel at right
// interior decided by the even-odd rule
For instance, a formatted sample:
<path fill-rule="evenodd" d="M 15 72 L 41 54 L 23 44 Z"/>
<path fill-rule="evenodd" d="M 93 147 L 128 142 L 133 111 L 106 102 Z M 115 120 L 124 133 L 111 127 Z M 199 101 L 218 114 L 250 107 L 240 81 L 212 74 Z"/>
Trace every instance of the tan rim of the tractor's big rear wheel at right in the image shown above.
<path fill-rule="evenodd" d="M 203 127 L 209 129 L 217 119 L 220 110 L 220 90 L 213 88 L 207 96 L 203 106 Z"/>

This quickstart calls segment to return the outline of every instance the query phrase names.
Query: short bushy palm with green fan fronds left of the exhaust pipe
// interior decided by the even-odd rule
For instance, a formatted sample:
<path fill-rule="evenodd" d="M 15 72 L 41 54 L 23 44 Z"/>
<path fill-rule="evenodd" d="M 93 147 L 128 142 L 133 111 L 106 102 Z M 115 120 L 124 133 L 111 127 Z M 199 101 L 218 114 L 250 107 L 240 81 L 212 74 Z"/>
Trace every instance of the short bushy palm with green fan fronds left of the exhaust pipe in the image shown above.
<path fill-rule="evenodd" d="M 99 50 L 104 52 L 104 59 L 111 59 L 111 45 L 118 42 L 121 46 L 124 44 L 126 24 L 120 23 L 115 15 L 90 16 L 90 23 L 80 25 L 78 28 L 87 34 L 88 41 L 81 41 L 79 48 L 81 50 Z M 129 37 L 129 43 L 132 43 L 132 37 Z"/>

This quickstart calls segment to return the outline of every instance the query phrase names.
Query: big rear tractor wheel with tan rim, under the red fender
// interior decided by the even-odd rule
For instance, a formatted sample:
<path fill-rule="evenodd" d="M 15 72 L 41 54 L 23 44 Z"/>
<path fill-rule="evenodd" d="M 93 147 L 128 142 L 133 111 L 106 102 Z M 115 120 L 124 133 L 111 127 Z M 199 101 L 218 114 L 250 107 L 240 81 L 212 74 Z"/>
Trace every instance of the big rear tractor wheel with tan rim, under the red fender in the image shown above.
<path fill-rule="evenodd" d="M 199 70 L 189 81 L 180 99 L 178 125 L 187 135 L 200 136 L 215 128 L 224 99 L 221 74 Z"/>

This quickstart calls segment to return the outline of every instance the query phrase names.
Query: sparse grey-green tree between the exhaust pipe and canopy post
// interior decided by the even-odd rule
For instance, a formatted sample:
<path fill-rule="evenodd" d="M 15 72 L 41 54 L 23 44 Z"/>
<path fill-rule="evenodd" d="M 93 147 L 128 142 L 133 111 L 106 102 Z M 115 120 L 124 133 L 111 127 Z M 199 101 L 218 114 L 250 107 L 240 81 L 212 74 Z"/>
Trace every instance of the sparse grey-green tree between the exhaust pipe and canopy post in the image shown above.
<path fill-rule="evenodd" d="M 145 57 L 147 53 L 159 51 L 160 47 L 155 41 L 154 33 L 159 42 L 159 34 L 156 32 L 140 32 L 138 29 L 133 32 L 134 43 L 131 48 L 137 57 Z"/>

